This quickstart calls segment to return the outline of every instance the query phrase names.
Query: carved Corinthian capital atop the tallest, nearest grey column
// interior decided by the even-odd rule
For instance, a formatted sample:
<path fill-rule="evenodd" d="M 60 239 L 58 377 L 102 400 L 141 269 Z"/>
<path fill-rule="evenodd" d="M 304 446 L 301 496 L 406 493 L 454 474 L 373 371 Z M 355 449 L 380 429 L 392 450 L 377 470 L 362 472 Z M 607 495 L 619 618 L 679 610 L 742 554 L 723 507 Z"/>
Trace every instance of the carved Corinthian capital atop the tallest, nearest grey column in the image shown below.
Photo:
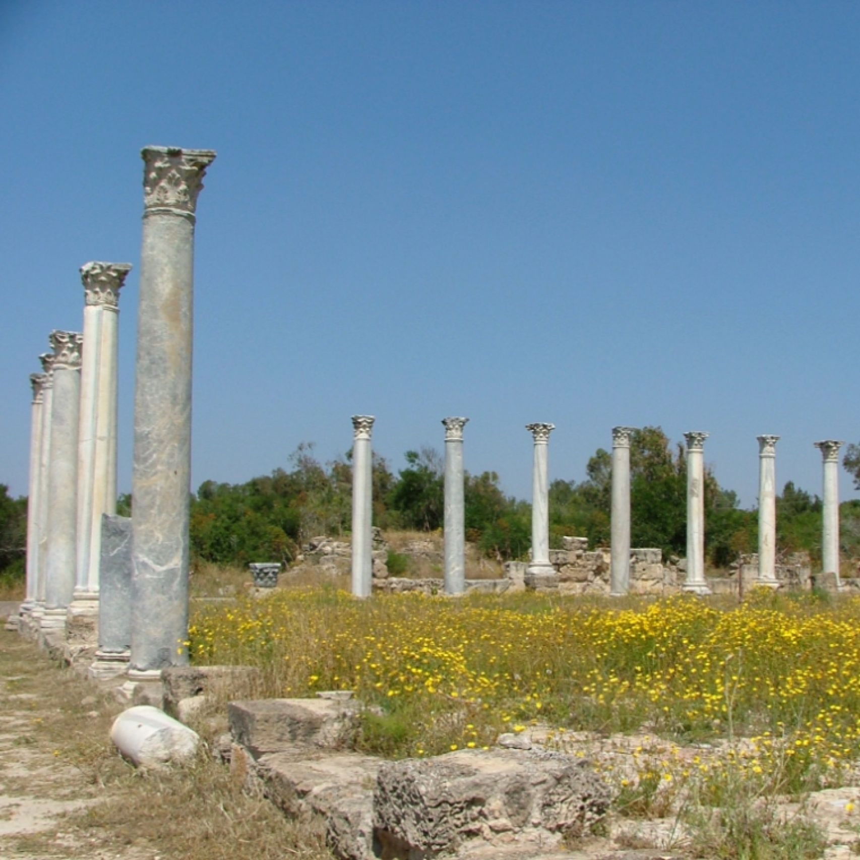
<path fill-rule="evenodd" d="M 214 150 L 144 146 L 144 214 L 161 210 L 194 217 L 203 175 L 215 155 Z"/>

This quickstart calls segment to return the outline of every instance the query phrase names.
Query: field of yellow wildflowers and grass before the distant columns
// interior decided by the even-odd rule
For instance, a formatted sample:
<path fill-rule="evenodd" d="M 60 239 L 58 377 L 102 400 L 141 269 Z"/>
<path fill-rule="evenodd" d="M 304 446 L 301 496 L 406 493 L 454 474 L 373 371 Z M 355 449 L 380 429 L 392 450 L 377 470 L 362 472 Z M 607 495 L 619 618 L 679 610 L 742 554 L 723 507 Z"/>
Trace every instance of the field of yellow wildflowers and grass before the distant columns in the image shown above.
<path fill-rule="evenodd" d="M 703 774 L 712 794 L 738 774 L 770 793 L 838 785 L 860 759 L 860 599 L 753 593 L 740 605 L 619 607 L 282 589 L 203 606 L 187 647 L 197 663 L 261 667 L 265 695 L 355 691 L 374 706 L 358 745 L 391 756 L 487 746 L 536 726 L 564 748 L 583 732 L 647 734 L 670 752 L 640 750 L 633 777 L 617 776 L 654 783 L 652 795 Z"/>

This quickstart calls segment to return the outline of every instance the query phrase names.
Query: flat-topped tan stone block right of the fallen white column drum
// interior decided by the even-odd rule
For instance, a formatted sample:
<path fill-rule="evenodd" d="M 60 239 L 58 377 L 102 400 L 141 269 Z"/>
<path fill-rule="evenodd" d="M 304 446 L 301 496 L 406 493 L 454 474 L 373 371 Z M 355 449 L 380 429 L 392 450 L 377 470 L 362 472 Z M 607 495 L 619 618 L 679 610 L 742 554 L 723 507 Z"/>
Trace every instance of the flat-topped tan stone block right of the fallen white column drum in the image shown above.
<path fill-rule="evenodd" d="M 358 705 L 332 699 L 230 702 L 230 733 L 255 758 L 287 747 L 339 749 L 358 725 Z"/>

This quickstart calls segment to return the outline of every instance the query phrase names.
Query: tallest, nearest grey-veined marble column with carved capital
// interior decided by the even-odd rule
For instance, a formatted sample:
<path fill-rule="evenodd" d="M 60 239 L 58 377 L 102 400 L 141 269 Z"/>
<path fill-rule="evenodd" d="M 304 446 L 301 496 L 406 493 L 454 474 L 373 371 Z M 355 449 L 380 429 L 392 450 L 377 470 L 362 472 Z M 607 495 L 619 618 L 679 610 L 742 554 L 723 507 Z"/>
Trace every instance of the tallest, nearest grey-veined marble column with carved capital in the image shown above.
<path fill-rule="evenodd" d="M 194 222 L 211 150 L 147 146 L 132 467 L 129 677 L 186 665 Z"/>

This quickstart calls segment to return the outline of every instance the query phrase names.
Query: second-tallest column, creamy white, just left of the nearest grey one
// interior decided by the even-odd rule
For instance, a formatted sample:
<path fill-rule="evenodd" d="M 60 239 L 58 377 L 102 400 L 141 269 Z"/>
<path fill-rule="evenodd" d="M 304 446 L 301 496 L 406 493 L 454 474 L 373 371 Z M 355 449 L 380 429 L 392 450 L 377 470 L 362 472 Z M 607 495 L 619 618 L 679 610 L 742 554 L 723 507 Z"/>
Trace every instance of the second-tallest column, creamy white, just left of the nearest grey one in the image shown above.
<path fill-rule="evenodd" d="M 117 324 L 130 263 L 89 262 L 83 279 L 81 424 L 77 457 L 77 577 L 73 613 L 98 610 L 101 514 L 116 513 Z"/>

